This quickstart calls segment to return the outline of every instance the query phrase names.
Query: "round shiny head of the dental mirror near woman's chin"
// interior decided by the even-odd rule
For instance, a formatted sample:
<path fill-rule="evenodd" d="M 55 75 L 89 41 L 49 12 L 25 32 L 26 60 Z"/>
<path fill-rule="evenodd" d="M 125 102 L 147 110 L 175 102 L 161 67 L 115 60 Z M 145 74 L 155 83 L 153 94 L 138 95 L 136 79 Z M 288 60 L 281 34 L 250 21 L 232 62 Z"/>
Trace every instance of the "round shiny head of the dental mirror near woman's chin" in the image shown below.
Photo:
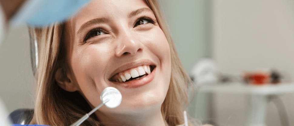
<path fill-rule="evenodd" d="M 104 103 L 107 99 L 109 99 L 109 101 L 104 105 L 107 108 L 116 108 L 122 102 L 122 94 L 116 88 L 107 87 L 102 91 L 100 100 Z"/>

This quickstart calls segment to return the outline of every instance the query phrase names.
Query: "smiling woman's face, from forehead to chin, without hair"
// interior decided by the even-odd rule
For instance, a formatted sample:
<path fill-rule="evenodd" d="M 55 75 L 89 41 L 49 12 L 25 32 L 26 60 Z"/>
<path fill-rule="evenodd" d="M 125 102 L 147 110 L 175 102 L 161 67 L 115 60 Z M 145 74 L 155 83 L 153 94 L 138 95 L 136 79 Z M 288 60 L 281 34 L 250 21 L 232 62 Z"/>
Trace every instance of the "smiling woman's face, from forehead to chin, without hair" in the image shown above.
<path fill-rule="evenodd" d="M 98 106 L 101 92 L 115 87 L 119 107 L 101 113 L 159 109 L 169 88 L 170 49 L 155 15 L 143 0 L 94 0 L 66 23 L 70 83 Z"/>

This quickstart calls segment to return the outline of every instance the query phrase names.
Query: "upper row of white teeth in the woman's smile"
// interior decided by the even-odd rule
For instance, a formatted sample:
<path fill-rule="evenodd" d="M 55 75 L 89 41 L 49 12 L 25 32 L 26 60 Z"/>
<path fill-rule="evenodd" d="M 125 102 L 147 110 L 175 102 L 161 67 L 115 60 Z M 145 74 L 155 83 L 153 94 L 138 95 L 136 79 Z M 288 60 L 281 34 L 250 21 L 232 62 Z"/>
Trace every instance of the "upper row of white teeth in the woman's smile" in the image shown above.
<path fill-rule="evenodd" d="M 150 67 L 147 65 L 142 65 L 136 68 L 132 68 L 130 71 L 121 72 L 119 73 L 119 82 L 125 82 L 126 80 L 129 80 L 130 78 L 136 78 L 141 75 L 150 74 Z"/>

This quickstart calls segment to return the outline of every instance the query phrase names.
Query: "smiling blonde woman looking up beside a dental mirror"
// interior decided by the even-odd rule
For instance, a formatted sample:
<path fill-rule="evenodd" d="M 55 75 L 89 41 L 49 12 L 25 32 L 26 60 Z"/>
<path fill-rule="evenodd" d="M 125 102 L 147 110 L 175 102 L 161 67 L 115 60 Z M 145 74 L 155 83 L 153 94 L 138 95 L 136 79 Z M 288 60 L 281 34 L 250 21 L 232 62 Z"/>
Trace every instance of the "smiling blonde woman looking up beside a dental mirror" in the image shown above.
<path fill-rule="evenodd" d="M 40 47 L 31 124 L 70 125 L 101 104 L 106 87 L 121 92 L 121 105 L 100 108 L 83 125 L 184 123 L 191 81 L 155 0 L 93 0 L 65 23 L 34 32 Z"/>

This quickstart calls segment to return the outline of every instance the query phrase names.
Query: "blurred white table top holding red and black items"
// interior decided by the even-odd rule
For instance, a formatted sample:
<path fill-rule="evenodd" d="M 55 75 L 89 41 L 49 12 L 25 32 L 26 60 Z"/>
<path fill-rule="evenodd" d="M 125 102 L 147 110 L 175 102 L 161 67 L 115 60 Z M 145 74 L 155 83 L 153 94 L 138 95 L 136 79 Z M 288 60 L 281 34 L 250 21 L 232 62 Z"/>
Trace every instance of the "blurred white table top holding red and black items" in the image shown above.
<path fill-rule="evenodd" d="M 197 87 L 197 86 L 196 86 Z M 253 95 L 281 95 L 294 93 L 293 83 L 252 85 L 242 83 L 210 84 L 199 86 L 196 91 L 213 93 L 245 93 Z"/>

